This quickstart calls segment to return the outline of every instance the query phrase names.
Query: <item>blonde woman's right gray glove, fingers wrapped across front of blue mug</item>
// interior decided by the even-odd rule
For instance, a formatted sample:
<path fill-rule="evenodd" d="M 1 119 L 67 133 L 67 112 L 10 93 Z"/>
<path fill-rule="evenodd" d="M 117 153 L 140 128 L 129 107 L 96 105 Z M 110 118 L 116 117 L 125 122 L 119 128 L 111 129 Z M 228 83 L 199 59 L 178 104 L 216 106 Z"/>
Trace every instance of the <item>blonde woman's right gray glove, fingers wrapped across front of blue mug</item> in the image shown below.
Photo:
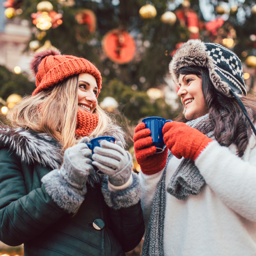
<path fill-rule="evenodd" d="M 109 182 L 114 186 L 125 184 L 132 172 L 132 156 L 122 146 L 103 140 L 101 147 L 94 147 L 93 165 L 109 176 Z"/>

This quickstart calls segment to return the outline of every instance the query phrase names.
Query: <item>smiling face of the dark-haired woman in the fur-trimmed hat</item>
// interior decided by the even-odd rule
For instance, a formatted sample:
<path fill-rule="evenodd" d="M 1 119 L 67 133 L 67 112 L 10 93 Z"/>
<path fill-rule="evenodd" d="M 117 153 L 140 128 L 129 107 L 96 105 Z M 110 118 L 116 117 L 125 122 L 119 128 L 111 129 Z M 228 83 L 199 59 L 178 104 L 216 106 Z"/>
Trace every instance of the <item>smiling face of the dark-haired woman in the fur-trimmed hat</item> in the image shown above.
<path fill-rule="evenodd" d="M 196 119 L 208 113 L 202 92 L 202 78 L 194 74 L 179 75 L 179 91 L 177 95 L 185 106 L 185 118 Z"/>

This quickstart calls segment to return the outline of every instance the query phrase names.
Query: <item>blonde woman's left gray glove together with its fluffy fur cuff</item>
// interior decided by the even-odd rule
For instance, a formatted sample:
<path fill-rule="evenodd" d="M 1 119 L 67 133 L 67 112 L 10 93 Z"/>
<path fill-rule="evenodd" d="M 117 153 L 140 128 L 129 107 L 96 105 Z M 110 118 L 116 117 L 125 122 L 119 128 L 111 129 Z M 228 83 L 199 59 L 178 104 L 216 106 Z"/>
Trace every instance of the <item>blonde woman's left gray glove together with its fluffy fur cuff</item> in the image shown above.
<path fill-rule="evenodd" d="M 89 141 L 88 137 L 84 137 L 79 144 L 69 147 L 60 169 L 52 170 L 41 179 L 42 189 L 68 213 L 79 209 L 87 192 L 87 177 L 94 171 L 90 159 L 92 153 L 83 143 Z"/>

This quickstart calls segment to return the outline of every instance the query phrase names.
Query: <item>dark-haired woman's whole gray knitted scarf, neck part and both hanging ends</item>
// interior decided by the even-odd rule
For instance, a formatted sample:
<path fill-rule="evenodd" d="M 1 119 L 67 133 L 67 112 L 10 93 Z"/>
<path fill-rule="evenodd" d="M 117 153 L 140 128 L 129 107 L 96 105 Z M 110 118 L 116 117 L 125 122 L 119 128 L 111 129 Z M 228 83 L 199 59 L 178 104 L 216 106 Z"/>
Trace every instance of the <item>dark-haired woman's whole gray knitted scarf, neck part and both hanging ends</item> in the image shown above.
<path fill-rule="evenodd" d="M 214 139 L 213 132 L 209 132 L 212 127 L 210 126 L 208 114 L 195 120 L 190 120 L 186 124 Z M 165 174 L 167 164 L 172 156 L 169 151 L 162 177 L 156 187 L 141 256 L 164 256 Z M 198 195 L 204 184 L 205 180 L 195 166 L 194 161 L 184 158 L 170 179 L 166 190 L 179 200 L 185 200 L 189 195 Z"/>

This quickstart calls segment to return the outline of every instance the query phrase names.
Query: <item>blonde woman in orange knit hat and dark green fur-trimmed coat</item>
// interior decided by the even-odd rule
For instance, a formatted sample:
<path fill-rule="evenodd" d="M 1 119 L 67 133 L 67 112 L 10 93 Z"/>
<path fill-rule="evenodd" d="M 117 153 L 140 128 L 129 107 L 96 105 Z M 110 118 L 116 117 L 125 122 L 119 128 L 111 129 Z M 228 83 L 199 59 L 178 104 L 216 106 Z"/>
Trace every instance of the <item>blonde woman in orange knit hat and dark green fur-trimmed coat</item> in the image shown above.
<path fill-rule="evenodd" d="M 37 88 L 0 127 L 0 240 L 24 243 L 24 256 L 125 255 L 144 233 L 141 187 L 123 131 L 98 106 L 99 70 L 57 50 L 31 68 Z M 105 135 L 119 145 L 94 148 L 99 176 L 86 143 Z"/>

